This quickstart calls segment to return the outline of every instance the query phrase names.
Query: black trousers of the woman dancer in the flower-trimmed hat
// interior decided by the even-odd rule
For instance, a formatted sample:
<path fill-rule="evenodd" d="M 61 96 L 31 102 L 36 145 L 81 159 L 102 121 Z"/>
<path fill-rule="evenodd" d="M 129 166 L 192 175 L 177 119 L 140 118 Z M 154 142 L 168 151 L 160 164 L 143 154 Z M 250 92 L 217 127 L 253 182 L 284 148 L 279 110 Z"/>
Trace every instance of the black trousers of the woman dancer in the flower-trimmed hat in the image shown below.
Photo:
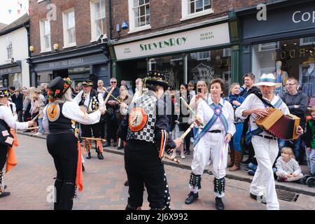
<path fill-rule="evenodd" d="M 78 148 L 76 137 L 71 133 L 48 134 L 47 148 L 55 163 L 55 210 L 71 210 L 76 182 Z"/>

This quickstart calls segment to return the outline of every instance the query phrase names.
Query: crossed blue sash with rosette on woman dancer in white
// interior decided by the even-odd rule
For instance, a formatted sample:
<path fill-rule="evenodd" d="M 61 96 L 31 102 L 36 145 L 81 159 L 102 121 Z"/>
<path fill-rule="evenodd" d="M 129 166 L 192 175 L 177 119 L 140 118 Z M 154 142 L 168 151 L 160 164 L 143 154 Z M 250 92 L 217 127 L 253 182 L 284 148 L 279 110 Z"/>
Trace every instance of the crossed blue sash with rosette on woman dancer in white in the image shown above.
<path fill-rule="evenodd" d="M 223 101 L 223 104 L 224 104 L 224 101 Z M 194 147 L 198 144 L 200 139 L 204 137 L 204 134 L 207 134 L 210 128 L 214 125 L 214 123 L 216 123 L 216 120 L 218 120 L 218 118 L 221 120 L 221 123 L 223 123 L 225 132 L 228 132 L 228 120 L 223 115 L 223 106 L 221 106 L 221 104 L 218 104 L 218 106 L 216 106 L 215 104 L 211 104 L 208 106 L 214 111 L 214 116 L 212 116 L 212 118 L 209 120 L 207 125 L 204 126 L 202 131 L 199 134 L 197 134 L 197 136 L 195 137 L 195 141 L 193 144 Z"/>

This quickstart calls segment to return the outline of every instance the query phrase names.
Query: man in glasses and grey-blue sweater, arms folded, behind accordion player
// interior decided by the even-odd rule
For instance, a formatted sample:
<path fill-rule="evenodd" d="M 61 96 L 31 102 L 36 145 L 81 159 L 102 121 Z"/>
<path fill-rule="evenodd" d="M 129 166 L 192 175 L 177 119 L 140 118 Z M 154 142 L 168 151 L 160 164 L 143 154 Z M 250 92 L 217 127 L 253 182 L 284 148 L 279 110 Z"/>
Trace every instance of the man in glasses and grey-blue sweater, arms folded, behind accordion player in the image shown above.
<path fill-rule="evenodd" d="M 286 81 L 286 92 L 283 94 L 282 100 L 288 106 L 290 113 L 301 118 L 300 126 L 305 128 L 305 116 L 304 113 L 307 111 L 308 99 L 307 95 L 302 91 L 297 90 L 298 81 L 296 78 L 290 77 Z M 299 136 L 296 140 L 293 140 L 293 151 L 295 159 L 300 161 L 300 146 L 302 142 L 302 136 Z M 288 141 L 279 139 L 279 148 L 288 146 Z"/>

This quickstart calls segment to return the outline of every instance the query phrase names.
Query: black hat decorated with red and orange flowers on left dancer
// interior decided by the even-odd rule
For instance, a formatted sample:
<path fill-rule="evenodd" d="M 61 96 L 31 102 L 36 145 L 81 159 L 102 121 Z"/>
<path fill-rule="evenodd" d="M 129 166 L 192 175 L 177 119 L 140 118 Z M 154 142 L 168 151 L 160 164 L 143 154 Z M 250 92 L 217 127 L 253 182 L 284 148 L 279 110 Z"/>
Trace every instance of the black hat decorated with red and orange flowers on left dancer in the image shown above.
<path fill-rule="evenodd" d="M 70 78 L 54 78 L 48 85 L 49 102 L 55 102 L 56 99 L 61 99 L 66 90 L 71 86 Z"/>

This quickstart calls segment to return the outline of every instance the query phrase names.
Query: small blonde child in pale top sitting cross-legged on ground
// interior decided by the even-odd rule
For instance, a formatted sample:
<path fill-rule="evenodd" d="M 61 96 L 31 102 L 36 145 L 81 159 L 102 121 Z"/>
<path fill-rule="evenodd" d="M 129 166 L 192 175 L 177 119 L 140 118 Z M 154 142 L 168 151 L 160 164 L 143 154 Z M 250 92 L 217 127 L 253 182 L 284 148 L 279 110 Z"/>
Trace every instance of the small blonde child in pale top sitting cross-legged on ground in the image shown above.
<path fill-rule="evenodd" d="M 276 160 L 276 176 L 279 182 L 292 182 L 302 179 L 302 170 L 294 158 L 292 148 L 284 147 Z"/>

